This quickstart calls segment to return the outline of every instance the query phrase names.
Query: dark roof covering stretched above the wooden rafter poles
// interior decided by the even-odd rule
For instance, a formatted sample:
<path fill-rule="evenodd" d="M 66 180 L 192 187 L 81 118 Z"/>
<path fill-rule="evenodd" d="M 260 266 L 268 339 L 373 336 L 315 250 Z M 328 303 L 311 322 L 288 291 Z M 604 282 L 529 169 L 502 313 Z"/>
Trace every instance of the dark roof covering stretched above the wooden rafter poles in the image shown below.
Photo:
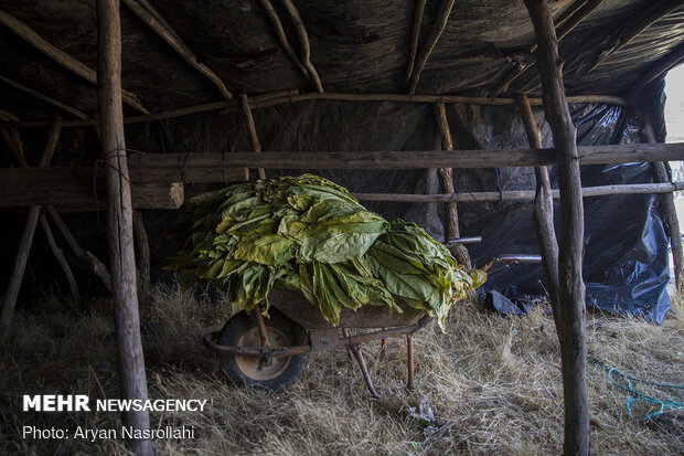
<path fill-rule="evenodd" d="M 122 1 L 122 85 L 154 113 L 228 95 L 298 89 L 316 92 L 407 93 L 416 3 L 391 0 L 170 0 Z M 492 95 L 516 65 L 534 62 L 534 33 L 522 1 L 458 0 L 438 35 L 440 14 L 450 1 L 427 1 L 419 26 L 416 94 Z M 560 42 L 569 95 L 626 95 L 640 77 L 673 55 L 682 55 L 684 8 L 681 1 L 560 0 L 552 3 L 557 22 L 569 15 L 571 29 Z M 124 6 L 125 4 L 125 6 Z M 165 25 L 191 66 L 135 13 L 147 11 Z M 270 4 L 275 15 L 267 14 Z M 286 8 L 287 6 L 290 6 Z M 579 8 L 578 8 L 579 7 Z M 94 2 L 3 0 L 0 8 L 57 50 L 96 70 Z M 156 10 L 156 11 L 154 11 Z M 303 28 L 296 26 L 298 12 Z M 574 14 L 570 14 L 574 12 Z M 278 18 L 284 36 L 274 22 Z M 295 19 L 292 19 L 295 18 Z M 573 22 L 578 24 L 571 28 Z M 563 24 L 559 24 L 563 26 Z M 416 29 L 418 30 L 418 29 Z M 634 33 L 640 32 L 635 36 Z M 306 40 L 303 39 L 306 36 Z M 310 65 L 302 59 L 310 49 Z M 427 43 L 427 44 L 426 44 Z M 611 53 L 616 46 L 621 46 Z M 190 54 L 188 54 L 188 52 Z M 675 59 L 676 61 L 676 59 Z M 197 71 L 199 64 L 205 65 Z M 672 66 L 672 65 L 670 65 Z M 15 31 L 0 25 L 0 72 L 41 94 L 87 115 L 96 109 L 94 85 L 55 63 Z M 203 74 L 204 73 L 204 74 Z M 212 76 L 207 77 L 207 74 Z M 217 76 L 217 77 L 216 77 Z M 213 81 L 212 81 L 213 78 Z M 223 84 L 225 91 L 218 87 Z M 0 82 L 0 108 L 21 119 L 40 119 L 61 110 Z M 539 93 L 536 68 L 520 74 L 502 94 Z M 138 109 L 140 110 L 140 109 Z M 127 107 L 129 114 L 133 108 Z M 67 115 L 68 117 L 68 115 Z"/>

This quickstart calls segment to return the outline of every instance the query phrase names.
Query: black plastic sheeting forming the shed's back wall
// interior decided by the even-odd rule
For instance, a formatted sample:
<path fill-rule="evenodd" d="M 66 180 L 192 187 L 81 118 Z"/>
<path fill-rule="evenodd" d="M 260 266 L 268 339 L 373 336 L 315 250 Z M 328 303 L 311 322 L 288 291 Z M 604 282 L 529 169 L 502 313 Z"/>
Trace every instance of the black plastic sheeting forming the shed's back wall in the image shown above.
<path fill-rule="evenodd" d="M 580 145 L 635 142 L 638 120 L 623 108 L 603 105 L 573 105 Z M 513 106 L 448 105 L 447 114 L 459 149 L 525 148 L 524 128 Z M 541 107 L 534 109 L 542 126 L 545 147 L 553 146 L 552 134 Z M 255 112 L 264 150 L 432 150 L 440 147 L 432 107 L 428 104 L 310 102 Z M 249 150 L 241 116 L 201 116 L 192 121 L 169 120 L 164 151 Z M 137 129 L 137 131 L 135 131 Z M 162 151 L 160 128 L 131 128 L 131 148 Z M 314 172 L 332 179 L 352 192 L 439 193 L 435 170 L 269 170 L 268 177 Z M 555 184 L 555 171 L 551 170 Z M 650 165 L 583 167 L 583 184 L 652 182 Z M 534 189 L 532 168 L 457 169 L 457 192 Z M 188 185 L 186 197 L 207 190 Z M 585 199 L 586 253 L 584 276 L 588 306 L 662 321 L 670 308 L 665 293 L 669 280 L 667 240 L 653 195 L 610 195 Z M 370 210 L 388 220 L 416 222 L 442 241 L 441 204 L 366 202 Z M 538 254 L 532 221 L 532 201 L 459 203 L 461 235 L 480 235 L 481 244 L 469 246 L 474 264 L 503 253 Z M 559 208 L 556 204 L 556 221 Z M 169 216 L 146 213 L 151 232 L 163 232 Z M 559 232 L 559 225 L 556 226 Z M 153 268 L 159 271 L 171 255 L 164 238 L 150 238 Z M 153 272 L 154 273 L 154 272 Z M 159 277 L 158 278 L 162 278 Z M 493 275 L 484 291 L 496 290 L 509 299 L 538 300 L 545 295 L 541 265 L 513 265 Z M 502 297 L 503 297 L 502 296 Z"/>

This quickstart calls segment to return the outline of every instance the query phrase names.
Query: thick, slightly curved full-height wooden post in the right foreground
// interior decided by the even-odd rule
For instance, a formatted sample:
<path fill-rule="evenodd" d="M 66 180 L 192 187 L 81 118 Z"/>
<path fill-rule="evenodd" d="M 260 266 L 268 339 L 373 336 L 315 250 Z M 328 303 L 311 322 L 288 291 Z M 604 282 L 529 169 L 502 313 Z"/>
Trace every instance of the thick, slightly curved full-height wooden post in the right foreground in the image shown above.
<path fill-rule="evenodd" d="M 560 357 L 565 399 L 566 455 L 588 455 L 589 406 L 586 384 L 584 206 L 576 129 L 563 85 L 558 40 L 546 0 L 525 0 L 537 39 L 537 67 L 544 91 L 544 112 L 554 135 L 558 161 L 562 231 L 558 240 Z"/>

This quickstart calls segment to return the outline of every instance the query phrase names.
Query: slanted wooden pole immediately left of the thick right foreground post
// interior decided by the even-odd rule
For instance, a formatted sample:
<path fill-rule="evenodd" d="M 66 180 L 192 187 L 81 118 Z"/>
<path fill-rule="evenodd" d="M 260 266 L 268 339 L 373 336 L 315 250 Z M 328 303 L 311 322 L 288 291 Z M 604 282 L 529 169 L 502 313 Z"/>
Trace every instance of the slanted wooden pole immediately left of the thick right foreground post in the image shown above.
<path fill-rule="evenodd" d="M 527 135 L 527 142 L 530 142 L 530 147 L 543 147 L 542 131 L 539 131 L 539 128 L 534 120 L 532 106 L 530 106 L 527 95 L 520 95 L 519 108 L 523 119 L 523 125 L 525 126 L 525 132 Z M 548 169 L 546 167 L 535 167 L 534 174 L 536 177 L 536 191 L 532 218 L 534 220 L 534 227 L 537 235 L 537 245 L 539 246 L 539 253 L 542 254 L 542 265 L 544 267 L 544 276 L 546 278 L 546 289 L 548 291 L 551 306 L 554 312 L 554 320 L 556 322 L 556 328 L 562 328 L 563 320 L 559 301 L 560 285 L 558 284 L 558 243 L 556 241 L 556 230 L 554 227 L 554 195 L 551 188 L 551 180 L 548 179 Z"/>

